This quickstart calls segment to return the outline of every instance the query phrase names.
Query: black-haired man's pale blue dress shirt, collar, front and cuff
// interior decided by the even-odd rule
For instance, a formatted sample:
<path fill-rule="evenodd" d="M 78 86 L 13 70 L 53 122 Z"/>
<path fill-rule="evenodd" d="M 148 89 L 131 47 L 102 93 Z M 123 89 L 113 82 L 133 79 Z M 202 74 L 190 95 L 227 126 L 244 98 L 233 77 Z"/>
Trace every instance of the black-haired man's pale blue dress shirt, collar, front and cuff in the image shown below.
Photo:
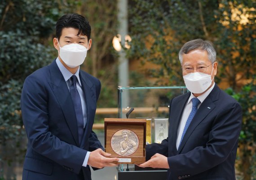
<path fill-rule="evenodd" d="M 70 90 L 70 86 L 71 86 L 71 80 L 70 80 L 71 76 L 75 75 L 78 79 L 78 82 L 76 82 L 76 89 L 79 92 L 81 103 L 82 103 L 82 110 L 83 110 L 83 116 L 84 116 L 84 127 L 85 127 L 85 125 L 87 123 L 87 113 L 86 113 L 86 103 L 85 103 L 84 92 L 83 92 L 82 84 L 81 84 L 80 77 L 79 77 L 80 66 L 77 69 L 77 71 L 75 72 L 75 74 L 72 74 L 68 69 L 65 68 L 65 66 L 61 63 L 61 61 L 59 60 L 58 57 L 56 59 L 56 63 L 66 81 L 66 86 L 68 87 L 68 90 Z M 90 155 L 90 151 L 88 151 L 85 156 L 84 163 L 83 163 L 84 167 L 87 166 L 89 155 Z"/>

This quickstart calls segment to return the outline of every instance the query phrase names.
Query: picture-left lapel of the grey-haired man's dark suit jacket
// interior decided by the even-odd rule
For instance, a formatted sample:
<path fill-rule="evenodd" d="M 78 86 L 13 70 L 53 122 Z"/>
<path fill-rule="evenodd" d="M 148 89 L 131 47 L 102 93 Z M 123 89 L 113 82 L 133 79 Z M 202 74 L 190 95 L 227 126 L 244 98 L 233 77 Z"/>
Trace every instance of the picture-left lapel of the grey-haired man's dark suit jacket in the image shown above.
<path fill-rule="evenodd" d="M 172 109 L 172 115 L 170 116 L 170 128 L 171 131 L 170 132 L 170 141 L 172 143 L 172 154 L 177 154 L 177 148 L 176 148 L 176 140 L 177 140 L 177 131 L 178 131 L 178 127 L 181 121 L 181 116 L 182 116 L 182 112 L 184 110 L 185 104 L 187 103 L 188 99 L 190 97 L 190 93 L 185 94 L 185 96 L 183 96 L 183 99 L 181 99 L 181 101 L 179 101 L 177 104 L 171 104 L 170 107 Z M 170 137 L 169 136 L 169 137 Z"/>

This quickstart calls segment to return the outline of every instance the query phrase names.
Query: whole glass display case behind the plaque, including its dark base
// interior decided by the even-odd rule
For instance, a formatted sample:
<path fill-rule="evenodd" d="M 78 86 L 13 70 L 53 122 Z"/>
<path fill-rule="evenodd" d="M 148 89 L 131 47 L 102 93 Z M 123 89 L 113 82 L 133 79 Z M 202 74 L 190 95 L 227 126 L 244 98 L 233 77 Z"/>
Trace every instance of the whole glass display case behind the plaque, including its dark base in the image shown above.
<path fill-rule="evenodd" d="M 161 143 L 168 137 L 169 103 L 176 96 L 187 93 L 185 86 L 118 87 L 118 117 L 146 119 L 146 144 Z M 133 109 L 134 108 L 134 109 Z M 139 168 L 120 164 L 118 180 L 166 179 L 166 170 Z M 150 172 L 150 173 L 149 173 Z M 160 178 L 161 179 L 161 178 Z"/>

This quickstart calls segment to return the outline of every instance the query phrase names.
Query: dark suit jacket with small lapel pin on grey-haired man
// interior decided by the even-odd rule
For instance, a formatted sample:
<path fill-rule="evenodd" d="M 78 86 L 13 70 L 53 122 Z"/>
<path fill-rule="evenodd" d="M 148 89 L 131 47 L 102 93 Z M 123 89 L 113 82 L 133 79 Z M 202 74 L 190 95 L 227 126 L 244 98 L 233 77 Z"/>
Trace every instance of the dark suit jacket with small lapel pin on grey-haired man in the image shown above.
<path fill-rule="evenodd" d="M 188 127 L 179 149 L 177 129 L 190 93 L 172 99 L 168 138 L 146 146 L 146 159 L 168 157 L 168 180 L 235 180 L 234 163 L 242 124 L 237 101 L 215 85 Z"/>

